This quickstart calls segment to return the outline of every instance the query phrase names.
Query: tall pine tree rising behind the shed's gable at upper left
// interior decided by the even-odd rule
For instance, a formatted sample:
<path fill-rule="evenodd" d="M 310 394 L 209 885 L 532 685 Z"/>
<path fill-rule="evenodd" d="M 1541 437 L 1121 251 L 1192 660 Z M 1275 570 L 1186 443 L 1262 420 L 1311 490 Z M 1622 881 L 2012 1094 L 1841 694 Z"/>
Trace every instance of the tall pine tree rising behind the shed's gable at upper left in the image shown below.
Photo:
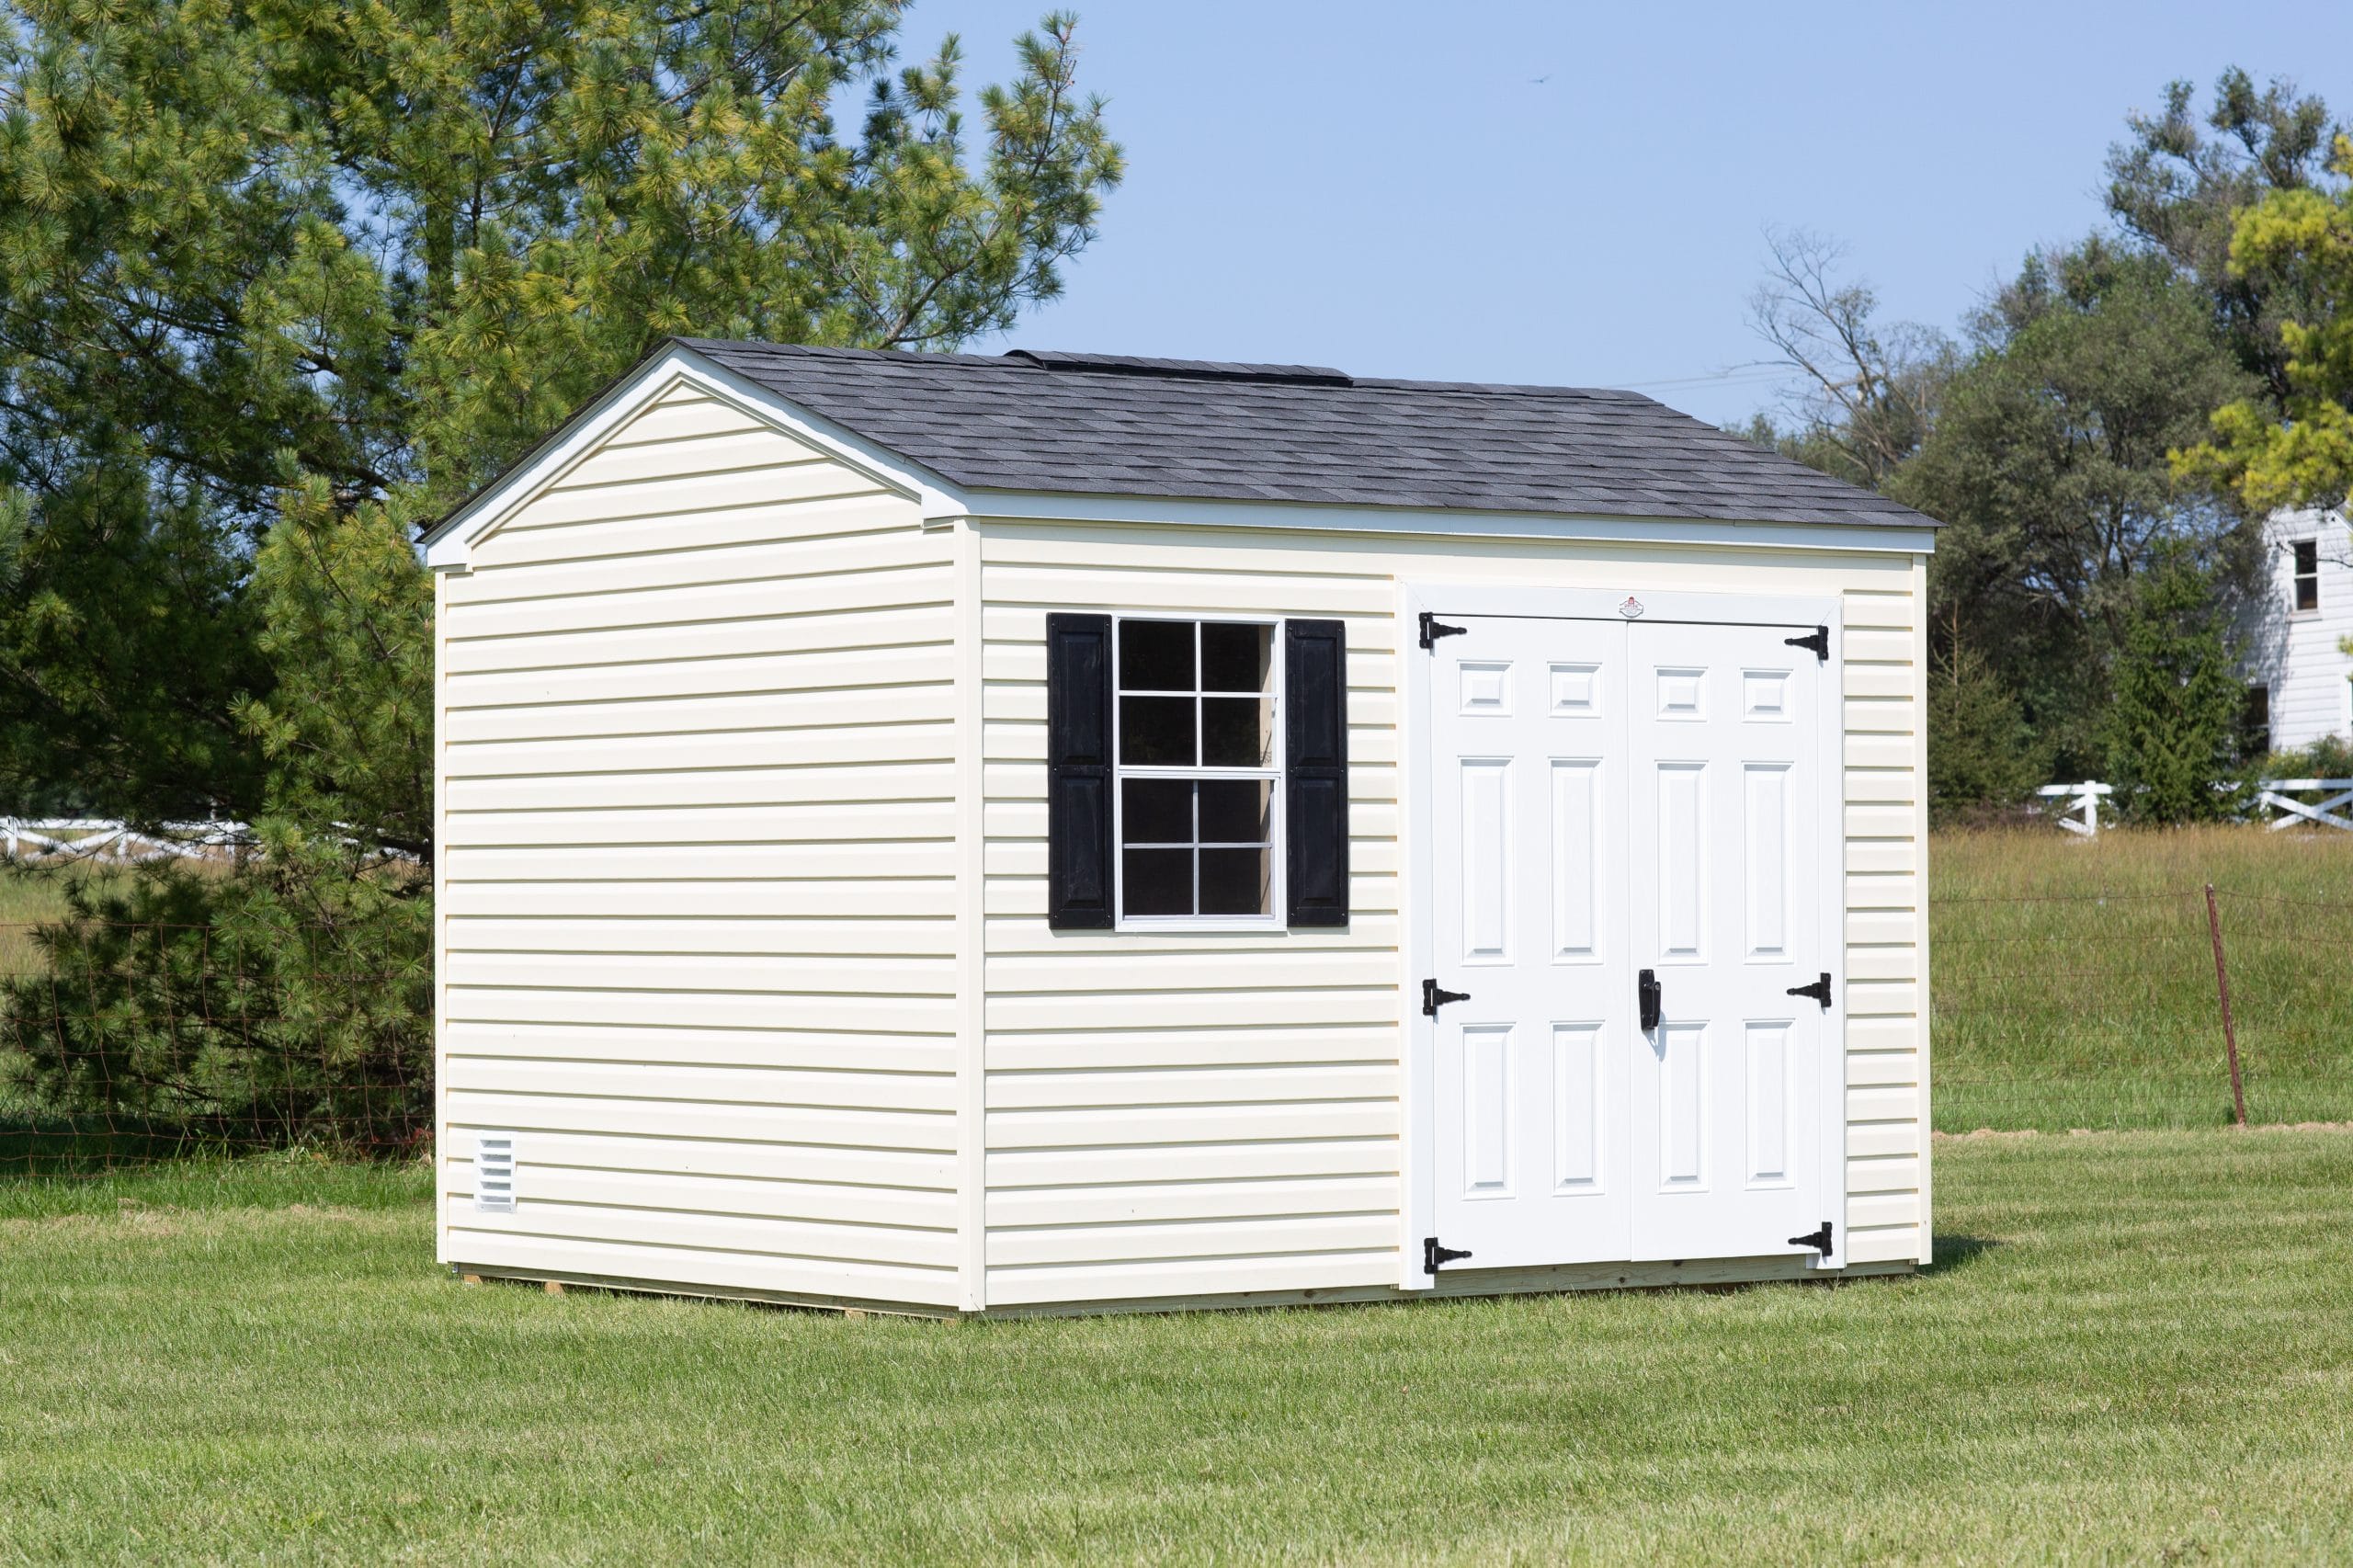
<path fill-rule="evenodd" d="M 0 805 L 259 810 L 252 565 L 431 513 L 661 332 L 953 346 L 1120 177 L 1068 16 L 981 92 L 904 0 L 42 0 L 0 28 Z M 835 101 L 866 92 L 852 127 Z M 381 513 L 388 516 L 388 513 Z"/>

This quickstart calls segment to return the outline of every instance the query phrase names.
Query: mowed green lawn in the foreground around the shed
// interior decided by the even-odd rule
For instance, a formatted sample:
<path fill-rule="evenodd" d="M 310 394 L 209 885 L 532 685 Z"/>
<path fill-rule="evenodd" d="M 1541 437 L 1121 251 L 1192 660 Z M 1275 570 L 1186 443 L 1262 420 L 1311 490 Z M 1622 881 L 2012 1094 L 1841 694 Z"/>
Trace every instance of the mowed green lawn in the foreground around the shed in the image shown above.
<path fill-rule="evenodd" d="M 2353 1132 L 1937 1161 L 1918 1278 L 1012 1323 L 461 1285 L 421 1170 L 0 1184 L 0 1552 L 2344 1561 Z"/>

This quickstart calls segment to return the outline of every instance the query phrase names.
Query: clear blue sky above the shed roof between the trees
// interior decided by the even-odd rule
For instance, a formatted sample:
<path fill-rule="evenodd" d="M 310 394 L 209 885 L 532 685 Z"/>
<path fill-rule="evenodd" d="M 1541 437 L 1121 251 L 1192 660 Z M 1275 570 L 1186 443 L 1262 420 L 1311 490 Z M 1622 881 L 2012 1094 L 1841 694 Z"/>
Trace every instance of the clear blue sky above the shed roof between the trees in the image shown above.
<path fill-rule="evenodd" d="M 974 344 L 1640 386 L 1772 403 L 1765 226 L 1835 235 L 1889 318 L 1953 327 L 2101 221 L 2125 111 L 2231 64 L 2353 113 L 2353 7 L 1078 2 L 1129 155 L 1066 294 Z M 1042 0 L 915 0 L 967 89 Z M 1433 19 L 1445 19 L 1433 24 Z M 1532 80 L 1546 78 L 1546 80 Z"/>

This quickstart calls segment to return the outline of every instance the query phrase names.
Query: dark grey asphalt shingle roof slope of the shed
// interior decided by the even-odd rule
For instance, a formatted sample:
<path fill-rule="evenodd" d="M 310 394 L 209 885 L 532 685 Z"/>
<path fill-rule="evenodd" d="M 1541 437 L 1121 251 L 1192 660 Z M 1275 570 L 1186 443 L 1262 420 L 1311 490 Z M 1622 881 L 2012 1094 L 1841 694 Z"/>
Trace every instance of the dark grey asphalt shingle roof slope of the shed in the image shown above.
<path fill-rule="evenodd" d="M 1932 525 L 1628 391 L 678 341 L 969 490 Z"/>

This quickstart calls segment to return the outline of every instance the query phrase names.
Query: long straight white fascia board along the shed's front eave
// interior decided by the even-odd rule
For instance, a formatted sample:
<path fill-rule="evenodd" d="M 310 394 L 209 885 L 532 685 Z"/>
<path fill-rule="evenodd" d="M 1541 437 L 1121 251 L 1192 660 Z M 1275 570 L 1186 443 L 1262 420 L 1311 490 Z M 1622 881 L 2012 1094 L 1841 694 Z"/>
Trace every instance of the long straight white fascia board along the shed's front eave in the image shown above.
<path fill-rule="evenodd" d="M 1927 556 L 1937 549 L 1934 527 L 1897 527 L 1885 523 L 1706 523 L 1692 518 L 1586 518 L 1527 511 L 1329 506 L 1308 501 L 1186 501 L 1009 490 L 974 490 L 965 499 L 976 523 L 1165 523 L 1348 534 L 1562 539 L 1584 544 L 1713 544 L 1882 556 Z"/>

